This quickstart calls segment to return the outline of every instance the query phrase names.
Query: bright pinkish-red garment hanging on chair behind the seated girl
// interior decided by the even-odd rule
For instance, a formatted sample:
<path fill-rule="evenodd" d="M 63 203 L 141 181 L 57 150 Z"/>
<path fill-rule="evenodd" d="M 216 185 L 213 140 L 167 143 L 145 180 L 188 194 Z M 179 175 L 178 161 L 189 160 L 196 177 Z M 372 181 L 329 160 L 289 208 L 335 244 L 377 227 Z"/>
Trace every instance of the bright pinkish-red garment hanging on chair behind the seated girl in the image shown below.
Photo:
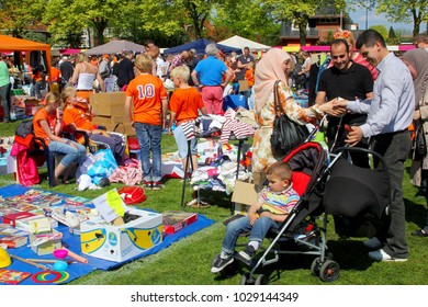
<path fill-rule="evenodd" d="M 14 143 L 10 155 L 16 157 L 16 171 L 20 183 L 30 186 L 41 182 L 34 157 L 29 156 L 29 147 Z"/>

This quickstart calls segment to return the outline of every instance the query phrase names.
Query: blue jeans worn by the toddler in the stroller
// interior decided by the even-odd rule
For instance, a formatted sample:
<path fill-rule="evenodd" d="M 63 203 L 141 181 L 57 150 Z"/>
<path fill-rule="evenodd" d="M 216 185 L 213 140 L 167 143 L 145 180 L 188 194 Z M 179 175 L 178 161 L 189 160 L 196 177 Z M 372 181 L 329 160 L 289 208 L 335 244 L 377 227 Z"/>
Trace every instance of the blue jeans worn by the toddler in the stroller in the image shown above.
<path fill-rule="evenodd" d="M 261 245 L 269 229 L 278 229 L 278 227 L 279 224 L 267 216 L 260 216 L 252 226 L 250 225 L 248 216 L 235 219 L 226 227 L 226 236 L 223 239 L 222 251 L 233 255 L 236 241 L 244 231 L 251 231 L 249 240 L 258 241 Z"/>

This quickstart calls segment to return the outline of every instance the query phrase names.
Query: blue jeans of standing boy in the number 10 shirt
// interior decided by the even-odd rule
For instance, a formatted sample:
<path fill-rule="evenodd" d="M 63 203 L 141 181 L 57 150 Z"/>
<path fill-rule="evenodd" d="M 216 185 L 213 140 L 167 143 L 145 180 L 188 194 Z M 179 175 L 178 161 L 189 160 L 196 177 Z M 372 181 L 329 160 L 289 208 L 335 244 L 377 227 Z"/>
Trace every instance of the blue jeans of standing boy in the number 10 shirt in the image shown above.
<path fill-rule="evenodd" d="M 139 144 L 139 158 L 143 167 L 143 179 L 145 181 L 157 182 L 162 179 L 160 140 L 162 138 L 162 126 L 135 123 Z M 151 150 L 151 166 L 150 166 Z"/>

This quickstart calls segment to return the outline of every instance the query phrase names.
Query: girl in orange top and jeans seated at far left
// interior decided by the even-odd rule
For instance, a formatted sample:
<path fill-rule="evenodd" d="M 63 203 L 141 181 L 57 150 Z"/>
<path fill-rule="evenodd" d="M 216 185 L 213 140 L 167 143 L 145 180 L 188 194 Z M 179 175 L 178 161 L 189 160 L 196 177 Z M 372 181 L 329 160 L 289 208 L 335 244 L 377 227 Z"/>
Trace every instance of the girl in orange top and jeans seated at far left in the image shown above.
<path fill-rule="evenodd" d="M 59 136 L 63 129 L 63 110 L 60 104 L 59 94 L 49 92 L 46 95 L 44 107 L 41 107 L 33 117 L 34 135 L 45 140 L 50 152 L 65 155 L 55 168 L 54 185 L 59 184 L 61 174 L 64 182 L 67 182 L 70 169 L 76 162 L 83 162 L 87 152 L 85 146 Z"/>

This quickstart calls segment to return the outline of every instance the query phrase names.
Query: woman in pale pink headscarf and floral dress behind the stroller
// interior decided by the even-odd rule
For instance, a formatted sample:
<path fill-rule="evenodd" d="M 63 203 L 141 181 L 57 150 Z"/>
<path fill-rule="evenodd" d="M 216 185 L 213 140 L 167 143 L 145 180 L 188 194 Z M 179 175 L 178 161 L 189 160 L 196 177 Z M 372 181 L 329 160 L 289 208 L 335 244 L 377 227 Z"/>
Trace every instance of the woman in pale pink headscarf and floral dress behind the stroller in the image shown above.
<path fill-rule="evenodd" d="M 294 69 L 294 61 L 290 55 L 282 49 L 270 49 L 257 64 L 256 69 L 256 121 L 259 125 L 252 143 L 252 174 L 255 189 L 261 191 L 266 181 L 266 169 L 277 161 L 273 157 L 270 145 L 270 137 L 273 130 L 274 113 L 274 83 L 279 83 L 279 99 L 282 109 L 293 122 L 305 124 L 322 118 L 324 112 L 331 109 L 331 103 L 314 105 L 311 107 L 300 106 L 293 99 L 289 86 L 289 75 Z"/>

